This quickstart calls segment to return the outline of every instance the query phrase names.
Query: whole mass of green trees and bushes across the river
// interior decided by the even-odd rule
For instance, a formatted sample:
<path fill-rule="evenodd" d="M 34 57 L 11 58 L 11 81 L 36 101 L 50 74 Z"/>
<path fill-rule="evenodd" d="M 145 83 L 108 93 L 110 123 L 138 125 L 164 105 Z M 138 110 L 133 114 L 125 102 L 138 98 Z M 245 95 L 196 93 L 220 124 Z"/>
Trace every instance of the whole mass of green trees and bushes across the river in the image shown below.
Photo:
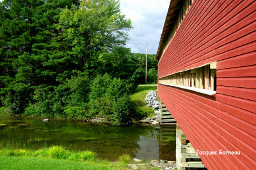
<path fill-rule="evenodd" d="M 145 117 L 130 95 L 145 82 L 145 55 L 125 48 L 131 20 L 114 0 L 0 3 L 0 107 L 4 114 Z M 148 83 L 157 81 L 148 55 Z"/>

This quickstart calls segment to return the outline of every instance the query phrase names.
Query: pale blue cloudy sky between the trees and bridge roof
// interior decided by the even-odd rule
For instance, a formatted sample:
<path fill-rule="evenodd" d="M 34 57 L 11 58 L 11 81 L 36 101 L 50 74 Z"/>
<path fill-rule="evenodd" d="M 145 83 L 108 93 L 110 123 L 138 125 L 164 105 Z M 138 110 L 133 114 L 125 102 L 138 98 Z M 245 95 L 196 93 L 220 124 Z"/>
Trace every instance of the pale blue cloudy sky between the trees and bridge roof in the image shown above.
<path fill-rule="evenodd" d="M 121 13 L 131 19 L 127 47 L 134 53 L 156 54 L 170 0 L 120 0 Z"/>

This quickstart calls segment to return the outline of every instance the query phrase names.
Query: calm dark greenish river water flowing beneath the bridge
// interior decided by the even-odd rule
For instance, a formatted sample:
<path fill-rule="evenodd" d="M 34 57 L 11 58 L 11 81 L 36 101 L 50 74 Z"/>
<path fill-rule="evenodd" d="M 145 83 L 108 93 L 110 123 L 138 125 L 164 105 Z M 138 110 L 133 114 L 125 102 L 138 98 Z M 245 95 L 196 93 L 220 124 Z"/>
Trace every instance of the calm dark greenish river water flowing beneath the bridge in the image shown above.
<path fill-rule="evenodd" d="M 175 126 L 116 127 L 70 120 L 0 118 L 0 149 L 61 145 L 69 150 L 91 150 L 98 157 L 175 160 Z"/>

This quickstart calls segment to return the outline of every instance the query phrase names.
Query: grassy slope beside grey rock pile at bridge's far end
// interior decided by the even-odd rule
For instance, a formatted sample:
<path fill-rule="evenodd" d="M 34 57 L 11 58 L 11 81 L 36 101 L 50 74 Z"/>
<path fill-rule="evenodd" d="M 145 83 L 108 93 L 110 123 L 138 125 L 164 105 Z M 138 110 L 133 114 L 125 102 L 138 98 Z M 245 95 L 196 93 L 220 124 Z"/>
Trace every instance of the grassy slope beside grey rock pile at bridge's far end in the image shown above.
<path fill-rule="evenodd" d="M 134 93 L 131 95 L 132 101 L 135 101 L 135 103 L 138 105 L 138 108 L 140 111 L 143 111 L 148 117 L 154 116 L 154 110 L 152 108 L 145 106 L 145 97 L 147 96 L 147 93 L 150 91 L 156 91 L 157 86 L 156 85 L 139 85 Z"/>

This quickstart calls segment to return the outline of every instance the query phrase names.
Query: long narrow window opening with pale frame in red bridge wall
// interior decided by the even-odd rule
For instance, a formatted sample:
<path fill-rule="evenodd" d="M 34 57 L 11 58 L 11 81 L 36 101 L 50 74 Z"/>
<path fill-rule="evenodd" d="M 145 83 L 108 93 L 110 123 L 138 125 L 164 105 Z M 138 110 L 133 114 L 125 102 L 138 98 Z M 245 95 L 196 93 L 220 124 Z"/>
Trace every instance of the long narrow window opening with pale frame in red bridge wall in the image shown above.
<path fill-rule="evenodd" d="M 211 62 L 159 78 L 159 84 L 212 96 L 216 94 L 216 80 L 216 62 Z"/>

